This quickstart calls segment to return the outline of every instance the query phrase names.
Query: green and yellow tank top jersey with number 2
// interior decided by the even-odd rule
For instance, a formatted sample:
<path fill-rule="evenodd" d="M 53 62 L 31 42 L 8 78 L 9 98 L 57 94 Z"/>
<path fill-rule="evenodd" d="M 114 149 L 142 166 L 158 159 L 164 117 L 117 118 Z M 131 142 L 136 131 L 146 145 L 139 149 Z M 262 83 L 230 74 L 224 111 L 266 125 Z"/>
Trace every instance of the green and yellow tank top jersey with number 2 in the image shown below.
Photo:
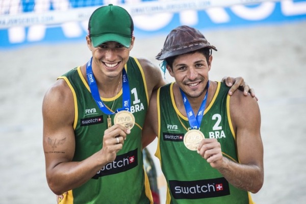
<path fill-rule="evenodd" d="M 197 151 L 184 145 L 184 135 L 190 124 L 175 105 L 173 84 L 161 87 L 157 96 L 156 156 L 167 181 L 166 203 L 253 203 L 247 191 L 232 186 Z M 216 93 L 204 112 L 200 131 L 205 138 L 216 138 L 220 142 L 224 157 L 238 162 L 227 92 L 228 88 L 218 82 Z"/>

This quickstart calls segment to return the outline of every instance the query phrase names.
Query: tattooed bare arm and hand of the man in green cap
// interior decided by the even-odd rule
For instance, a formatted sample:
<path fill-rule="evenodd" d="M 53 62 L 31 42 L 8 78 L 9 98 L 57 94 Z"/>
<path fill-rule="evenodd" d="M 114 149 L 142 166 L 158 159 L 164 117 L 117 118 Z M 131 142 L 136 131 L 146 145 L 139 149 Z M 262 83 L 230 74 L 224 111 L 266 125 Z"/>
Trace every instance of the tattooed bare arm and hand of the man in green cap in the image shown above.
<path fill-rule="evenodd" d="M 74 102 L 64 80 L 58 80 L 45 94 L 42 114 L 47 183 L 57 195 L 87 182 L 99 169 L 114 160 L 116 152 L 122 148 L 121 143 L 116 144 L 114 136 L 124 138 L 126 130 L 114 125 L 104 133 L 103 149 L 83 161 L 72 162 L 75 150 Z"/>

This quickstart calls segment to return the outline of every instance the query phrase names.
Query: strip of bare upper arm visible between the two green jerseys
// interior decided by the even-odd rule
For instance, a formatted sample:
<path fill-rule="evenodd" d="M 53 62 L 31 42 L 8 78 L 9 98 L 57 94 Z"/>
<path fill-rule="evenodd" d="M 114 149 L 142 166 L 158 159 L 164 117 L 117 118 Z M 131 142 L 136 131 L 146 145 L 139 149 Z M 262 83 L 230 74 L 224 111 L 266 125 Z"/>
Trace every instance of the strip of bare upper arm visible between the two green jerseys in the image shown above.
<path fill-rule="evenodd" d="M 146 114 L 146 119 L 142 129 L 142 147 L 150 144 L 158 135 L 158 115 L 157 115 L 157 90 L 152 93 L 150 105 Z"/>

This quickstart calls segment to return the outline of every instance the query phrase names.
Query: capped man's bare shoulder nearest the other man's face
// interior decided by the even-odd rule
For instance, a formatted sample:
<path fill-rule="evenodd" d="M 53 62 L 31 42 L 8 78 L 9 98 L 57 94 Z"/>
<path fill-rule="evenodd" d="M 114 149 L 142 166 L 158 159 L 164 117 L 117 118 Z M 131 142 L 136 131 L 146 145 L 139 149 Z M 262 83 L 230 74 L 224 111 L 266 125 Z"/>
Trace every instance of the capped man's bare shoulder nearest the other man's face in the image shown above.
<path fill-rule="evenodd" d="M 157 65 L 145 58 L 138 58 L 138 61 L 143 69 L 149 92 L 165 84 L 161 70 Z"/>

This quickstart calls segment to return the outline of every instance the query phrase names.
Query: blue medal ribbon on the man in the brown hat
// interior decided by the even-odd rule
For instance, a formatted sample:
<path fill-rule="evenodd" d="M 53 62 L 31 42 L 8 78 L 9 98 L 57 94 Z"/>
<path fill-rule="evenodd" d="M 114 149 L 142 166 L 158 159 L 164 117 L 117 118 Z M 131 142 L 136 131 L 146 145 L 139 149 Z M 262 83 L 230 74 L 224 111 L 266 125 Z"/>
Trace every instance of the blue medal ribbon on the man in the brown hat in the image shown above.
<path fill-rule="evenodd" d="M 191 129 L 199 129 L 203 115 L 204 115 L 204 111 L 205 111 L 205 106 L 207 103 L 207 95 L 208 95 L 208 88 L 209 88 L 209 82 L 207 82 L 207 91 L 205 94 L 205 97 L 202 101 L 202 104 L 200 106 L 200 109 L 198 111 L 197 116 L 194 115 L 193 110 L 190 106 L 190 103 L 185 95 L 185 93 L 182 91 L 182 89 L 180 89 L 182 97 L 183 97 L 183 102 L 184 102 L 184 106 L 185 106 L 185 110 L 187 113 L 187 118 L 190 124 Z"/>

